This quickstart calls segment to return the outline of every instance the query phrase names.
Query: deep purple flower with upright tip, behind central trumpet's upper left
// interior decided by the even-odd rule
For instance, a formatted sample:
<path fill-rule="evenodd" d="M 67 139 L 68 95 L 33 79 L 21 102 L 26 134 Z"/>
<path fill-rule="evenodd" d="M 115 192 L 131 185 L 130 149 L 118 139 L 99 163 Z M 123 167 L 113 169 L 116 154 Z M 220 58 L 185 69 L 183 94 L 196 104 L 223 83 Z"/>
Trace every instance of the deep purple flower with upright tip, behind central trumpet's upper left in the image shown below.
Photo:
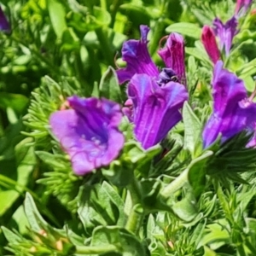
<path fill-rule="evenodd" d="M 141 25 L 140 30 L 140 40 L 131 39 L 123 44 L 122 56 L 127 65 L 125 68 L 116 71 L 120 84 L 130 80 L 135 73 L 146 73 L 152 77 L 159 73 L 148 53 L 147 36 L 149 27 Z"/>

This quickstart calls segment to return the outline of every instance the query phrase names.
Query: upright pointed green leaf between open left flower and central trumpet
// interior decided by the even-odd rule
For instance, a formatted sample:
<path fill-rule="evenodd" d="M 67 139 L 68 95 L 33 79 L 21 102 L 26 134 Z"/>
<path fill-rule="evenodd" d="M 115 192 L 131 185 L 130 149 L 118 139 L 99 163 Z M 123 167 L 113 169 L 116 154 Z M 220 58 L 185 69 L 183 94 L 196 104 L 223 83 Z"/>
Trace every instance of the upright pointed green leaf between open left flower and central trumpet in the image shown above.
<path fill-rule="evenodd" d="M 113 102 L 122 102 L 119 80 L 113 67 L 108 67 L 108 70 L 102 76 L 100 96 Z"/>

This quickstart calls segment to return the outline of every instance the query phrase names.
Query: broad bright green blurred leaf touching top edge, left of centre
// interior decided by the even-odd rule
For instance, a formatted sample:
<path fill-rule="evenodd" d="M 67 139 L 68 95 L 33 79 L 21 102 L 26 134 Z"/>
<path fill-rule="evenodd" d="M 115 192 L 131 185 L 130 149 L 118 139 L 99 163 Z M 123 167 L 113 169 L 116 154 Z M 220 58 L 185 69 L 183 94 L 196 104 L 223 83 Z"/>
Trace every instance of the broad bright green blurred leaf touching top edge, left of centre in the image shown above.
<path fill-rule="evenodd" d="M 62 33 L 67 29 L 66 10 L 58 0 L 48 0 L 49 19 L 57 38 L 61 39 Z"/>

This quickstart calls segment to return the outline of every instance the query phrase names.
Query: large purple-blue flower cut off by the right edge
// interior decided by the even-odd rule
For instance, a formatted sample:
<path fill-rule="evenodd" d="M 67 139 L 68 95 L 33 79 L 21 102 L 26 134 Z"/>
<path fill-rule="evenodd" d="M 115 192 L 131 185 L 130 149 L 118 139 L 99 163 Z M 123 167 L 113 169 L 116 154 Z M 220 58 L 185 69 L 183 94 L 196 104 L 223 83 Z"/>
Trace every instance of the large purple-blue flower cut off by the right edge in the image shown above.
<path fill-rule="evenodd" d="M 212 79 L 213 113 L 203 131 L 204 148 L 222 135 L 224 143 L 238 132 L 247 129 L 256 118 L 256 103 L 247 98 L 241 79 L 223 68 L 218 61 Z"/>

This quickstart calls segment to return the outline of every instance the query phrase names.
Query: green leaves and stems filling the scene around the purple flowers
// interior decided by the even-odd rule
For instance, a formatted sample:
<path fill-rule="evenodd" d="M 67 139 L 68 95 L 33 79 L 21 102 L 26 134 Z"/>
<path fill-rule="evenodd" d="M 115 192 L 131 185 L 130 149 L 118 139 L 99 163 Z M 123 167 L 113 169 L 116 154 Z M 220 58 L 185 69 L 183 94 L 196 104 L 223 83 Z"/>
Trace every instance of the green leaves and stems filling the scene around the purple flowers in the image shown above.
<path fill-rule="evenodd" d="M 1 255 L 256 255 L 255 148 L 241 132 L 207 150 L 212 61 L 201 27 L 234 15 L 235 1 L 5 0 L 11 33 L 0 32 Z M 253 7 L 255 8 L 255 3 Z M 144 150 L 124 117 L 119 157 L 89 175 L 73 173 L 49 116 L 68 96 L 127 99 L 116 67 L 139 26 L 159 68 L 161 38 L 185 38 L 189 100 L 181 121 Z M 239 20 L 224 66 L 254 90 L 255 15 Z M 116 57 L 115 57 L 116 55 Z M 111 145 L 110 145 L 111 147 Z M 23 204 L 24 201 L 24 204 Z"/>

